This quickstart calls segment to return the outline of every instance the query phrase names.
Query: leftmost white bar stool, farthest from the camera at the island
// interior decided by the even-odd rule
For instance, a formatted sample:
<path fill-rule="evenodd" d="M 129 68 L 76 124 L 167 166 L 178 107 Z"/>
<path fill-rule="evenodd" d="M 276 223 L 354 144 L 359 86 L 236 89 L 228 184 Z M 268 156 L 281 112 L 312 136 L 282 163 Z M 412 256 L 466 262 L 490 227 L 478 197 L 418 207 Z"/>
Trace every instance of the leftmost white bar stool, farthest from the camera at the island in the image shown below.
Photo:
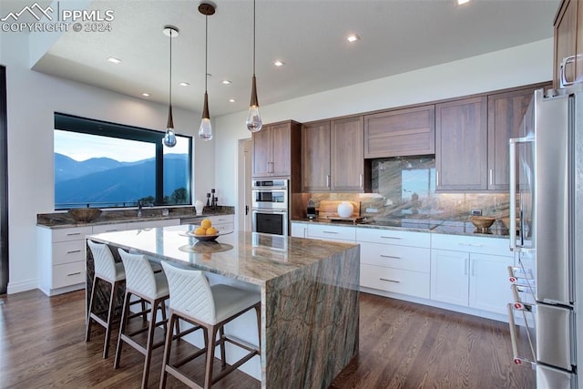
<path fill-rule="evenodd" d="M 89 250 L 93 254 L 95 275 L 93 276 L 93 289 L 91 290 L 91 298 L 87 310 L 87 331 L 85 333 L 85 342 L 89 342 L 91 339 L 91 322 L 101 324 L 106 329 L 105 340 L 103 341 L 103 358 L 105 359 L 109 354 L 109 341 L 111 339 L 111 327 L 113 324 L 113 315 L 116 305 L 116 292 L 118 291 L 118 287 L 126 282 L 126 271 L 124 271 L 123 263 L 116 263 L 116 260 L 113 258 L 113 254 L 109 250 L 109 247 L 107 247 L 107 244 L 96 243 L 94 241 L 87 241 L 87 244 L 89 245 Z M 100 317 L 105 311 L 93 312 L 95 308 L 94 304 L 98 280 L 102 280 L 111 285 L 107 320 L 103 320 Z"/>

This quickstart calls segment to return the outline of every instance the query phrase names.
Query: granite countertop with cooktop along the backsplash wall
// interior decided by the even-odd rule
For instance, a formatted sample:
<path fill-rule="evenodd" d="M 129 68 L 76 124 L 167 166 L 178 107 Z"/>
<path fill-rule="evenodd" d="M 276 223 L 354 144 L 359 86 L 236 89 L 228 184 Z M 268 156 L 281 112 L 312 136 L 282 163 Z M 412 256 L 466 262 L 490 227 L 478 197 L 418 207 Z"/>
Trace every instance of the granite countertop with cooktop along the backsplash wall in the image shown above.
<path fill-rule="evenodd" d="M 490 228 L 490 233 L 476 231 L 471 221 L 464 220 L 425 220 L 425 219 L 390 219 L 390 220 L 363 220 L 359 223 L 350 221 L 332 221 L 325 219 L 299 219 L 293 222 L 319 223 L 336 226 L 354 226 L 358 228 L 383 229 L 383 230 L 409 230 L 414 232 L 433 232 L 450 235 L 471 235 L 492 238 L 507 238 L 508 230 L 504 227 L 495 228 L 496 224 Z"/>

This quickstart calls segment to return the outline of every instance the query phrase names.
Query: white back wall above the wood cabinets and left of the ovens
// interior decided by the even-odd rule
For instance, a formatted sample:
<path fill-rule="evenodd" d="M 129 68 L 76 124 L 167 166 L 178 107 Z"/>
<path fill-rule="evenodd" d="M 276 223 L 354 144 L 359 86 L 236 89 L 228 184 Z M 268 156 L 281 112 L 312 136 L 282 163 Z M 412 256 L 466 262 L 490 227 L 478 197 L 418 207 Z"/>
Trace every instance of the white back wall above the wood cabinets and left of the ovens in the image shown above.
<path fill-rule="evenodd" d="M 299 122 L 460 97 L 551 80 L 553 39 L 426 67 L 261 107 L 263 123 Z M 258 82 L 261 83 L 261 75 Z M 261 89 L 261 88 L 260 88 Z M 261 103 L 261 96 L 259 97 Z M 216 118 L 215 185 L 223 203 L 237 204 L 237 144 L 250 138 L 247 112 Z"/>

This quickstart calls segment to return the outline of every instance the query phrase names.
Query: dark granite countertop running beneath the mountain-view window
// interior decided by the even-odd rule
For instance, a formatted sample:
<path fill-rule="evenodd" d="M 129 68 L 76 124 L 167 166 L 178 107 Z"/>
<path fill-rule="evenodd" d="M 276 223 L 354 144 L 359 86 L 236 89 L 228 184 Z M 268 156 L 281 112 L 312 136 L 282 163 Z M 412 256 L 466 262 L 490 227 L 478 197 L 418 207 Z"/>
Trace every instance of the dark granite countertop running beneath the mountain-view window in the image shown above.
<path fill-rule="evenodd" d="M 169 210 L 169 214 L 164 216 L 163 210 Z M 148 220 L 173 220 L 204 218 L 216 215 L 230 215 L 235 213 L 235 207 L 218 206 L 204 207 L 202 213 L 197 215 L 194 207 L 176 208 L 143 208 L 142 216 L 138 218 L 138 210 L 103 210 L 96 220 L 81 222 L 74 220 L 66 211 L 54 213 L 39 213 L 36 215 L 36 225 L 50 229 L 85 227 L 100 224 L 128 223 Z"/>

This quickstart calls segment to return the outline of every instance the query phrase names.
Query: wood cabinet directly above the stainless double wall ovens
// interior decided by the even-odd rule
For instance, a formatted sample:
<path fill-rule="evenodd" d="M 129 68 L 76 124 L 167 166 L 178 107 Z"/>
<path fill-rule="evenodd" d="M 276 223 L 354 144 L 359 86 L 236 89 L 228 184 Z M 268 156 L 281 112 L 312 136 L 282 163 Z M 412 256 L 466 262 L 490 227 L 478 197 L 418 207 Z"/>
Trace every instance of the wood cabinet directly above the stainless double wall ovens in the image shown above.
<path fill-rule="evenodd" d="M 254 132 L 253 178 L 292 178 L 300 174 L 300 124 L 292 120 L 265 125 Z M 297 170 L 297 172 L 295 171 Z"/>

